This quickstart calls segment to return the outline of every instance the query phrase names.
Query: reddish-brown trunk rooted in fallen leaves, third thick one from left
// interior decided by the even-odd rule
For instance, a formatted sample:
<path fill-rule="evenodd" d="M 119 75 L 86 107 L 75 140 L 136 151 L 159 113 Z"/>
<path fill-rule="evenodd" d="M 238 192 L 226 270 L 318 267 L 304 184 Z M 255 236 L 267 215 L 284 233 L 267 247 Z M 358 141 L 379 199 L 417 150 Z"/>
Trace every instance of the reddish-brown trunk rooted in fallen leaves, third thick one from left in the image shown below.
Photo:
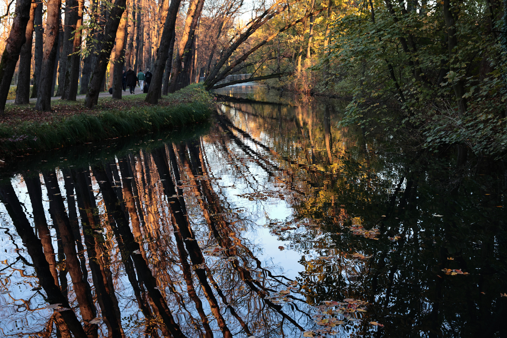
<path fill-rule="evenodd" d="M 37 91 L 35 110 L 51 109 L 51 89 L 55 67 L 58 37 L 60 35 L 61 0 L 48 0 L 46 12 L 46 39 L 41 68 L 41 82 Z"/>

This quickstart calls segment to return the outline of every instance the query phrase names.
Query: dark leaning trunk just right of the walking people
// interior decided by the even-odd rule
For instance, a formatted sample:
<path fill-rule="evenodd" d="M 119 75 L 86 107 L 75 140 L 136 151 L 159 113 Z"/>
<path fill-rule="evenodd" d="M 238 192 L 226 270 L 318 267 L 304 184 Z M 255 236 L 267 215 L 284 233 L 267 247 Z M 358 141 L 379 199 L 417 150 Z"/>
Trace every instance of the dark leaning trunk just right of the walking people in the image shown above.
<path fill-rule="evenodd" d="M 153 73 L 150 88 L 148 90 L 148 95 L 146 95 L 146 102 L 150 102 L 152 104 L 158 103 L 158 99 L 162 90 L 162 77 L 164 74 L 164 68 L 166 66 L 167 59 L 169 58 L 169 54 L 171 54 L 169 62 L 172 60 L 172 51 L 174 50 L 174 41 L 176 36 L 176 17 L 178 15 L 180 1 L 181 0 L 171 1 L 171 5 L 169 6 L 167 16 L 165 18 L 164 29 L 162 30 L 162 36 L 160 38 L 160 46 L 158 48 L 157 58 L 155 60 L 155 70 Z M 167 93 L 166 88 L 168 87 L 168 85 L 164 86 L 164 92 Z"/>

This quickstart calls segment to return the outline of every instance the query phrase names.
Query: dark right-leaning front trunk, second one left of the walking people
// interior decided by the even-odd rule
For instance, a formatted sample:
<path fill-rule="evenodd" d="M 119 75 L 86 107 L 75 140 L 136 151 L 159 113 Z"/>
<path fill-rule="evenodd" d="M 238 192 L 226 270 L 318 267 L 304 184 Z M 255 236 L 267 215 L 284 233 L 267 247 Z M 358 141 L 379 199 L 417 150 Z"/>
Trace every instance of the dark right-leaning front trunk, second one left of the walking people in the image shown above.
<path fill-rule="evenodd" d="M 90 85 L 88 86 L 88 91 L 86 93 L 85 106 L 87 108 L 91 108 L 93 105 L 97 104 L 100 85 L 102 84 L 102 80 L 107 67 L 107 59 L 110 57 L 111 50 L 113 49 L 113 44 L 116 39 L 116 32 L 118 30 L 123 12 L 125 11 L 125 3 L 126 0 L 115 1 L 115 4 L 111 9 L 111 13 L 108 16 L 107 22 L 105 24 L 102 46 L 100 48 L 100 52 L 98 53 L 97 61 L 95 62 L 95 67 L 93 69 L 92 78 L 90 80 Z"/>

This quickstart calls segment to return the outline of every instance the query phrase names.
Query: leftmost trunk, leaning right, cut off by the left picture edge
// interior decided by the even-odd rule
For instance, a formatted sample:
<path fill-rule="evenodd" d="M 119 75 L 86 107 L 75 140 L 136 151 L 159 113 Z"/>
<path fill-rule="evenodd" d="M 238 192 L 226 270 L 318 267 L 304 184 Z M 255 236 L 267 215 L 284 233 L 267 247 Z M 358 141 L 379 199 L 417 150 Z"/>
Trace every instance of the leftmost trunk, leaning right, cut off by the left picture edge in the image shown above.
<path fill-rule="evenodd" d="M 30 20 L 31 0 L 17 0 L 11 31 L 0 61 L 0 115 L 4 114 L 5 102 L 11 87 L 12 76 L 18 63 L 19 52 L 26 41 L 26 24 Z"/>

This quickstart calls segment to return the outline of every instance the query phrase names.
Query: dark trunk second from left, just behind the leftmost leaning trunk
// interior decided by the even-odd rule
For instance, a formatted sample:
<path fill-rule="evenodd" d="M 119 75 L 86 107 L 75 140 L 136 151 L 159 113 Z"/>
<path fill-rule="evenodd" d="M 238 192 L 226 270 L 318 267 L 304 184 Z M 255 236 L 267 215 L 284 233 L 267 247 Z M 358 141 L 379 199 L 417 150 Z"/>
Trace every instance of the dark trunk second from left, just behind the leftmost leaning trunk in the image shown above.
<path fill-rule="evenodd" d="M 32 0 L 30 6 L 30 19 L 26 24 L 25 39 L 26 42 L 21 47 L 19 57 L 19 74 L 18 87 L 16 88 L 16 104 L 26 104 L 30 101 L 30 66 L 32 58 L 32 41 L 33 41 L 33 19 L 37 3 Z"/>

